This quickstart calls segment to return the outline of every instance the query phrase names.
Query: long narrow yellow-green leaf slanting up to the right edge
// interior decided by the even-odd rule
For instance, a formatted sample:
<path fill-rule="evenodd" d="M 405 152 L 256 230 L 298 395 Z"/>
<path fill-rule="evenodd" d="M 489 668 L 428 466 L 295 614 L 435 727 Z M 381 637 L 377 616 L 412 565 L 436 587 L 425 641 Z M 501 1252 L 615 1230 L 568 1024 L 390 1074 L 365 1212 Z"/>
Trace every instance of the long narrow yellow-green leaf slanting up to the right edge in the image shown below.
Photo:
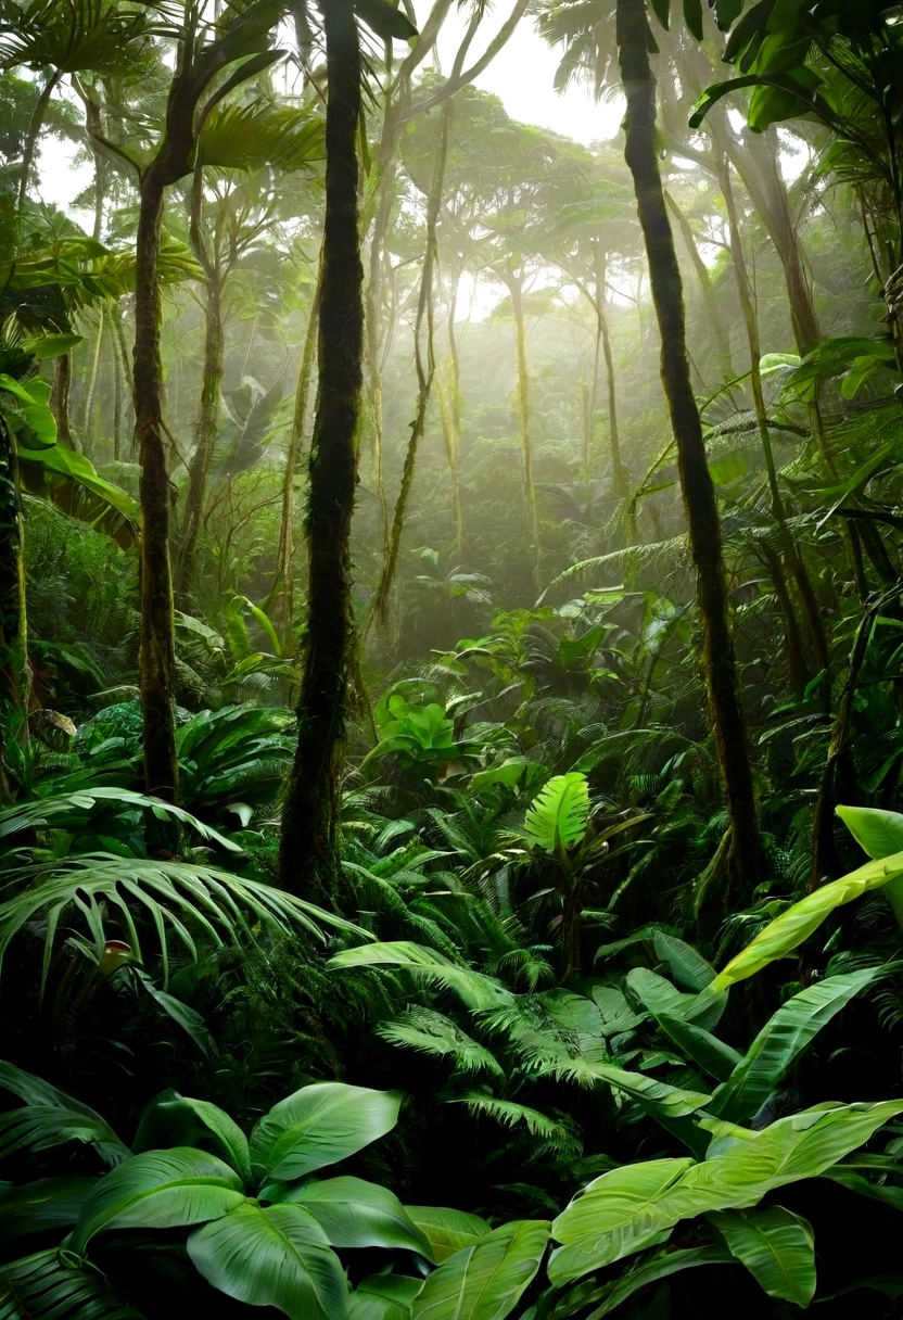
<path fill-rule="evenodd" d="M 734 985 L 754 975 L 762 968 L 767 968 L 775 958 L 783 958 L 817 931 L 821 923 L 834 908 L 852 903 L 870 890 L 881 888 L 890 880 L 903 875 L 903 851 L 892 857 L 877 858 L 866 862 L 865 866 L 842 875 L 838 880 L 822 884 L 821 888 L 807 894 L 799 903 L 782 912 L 771 921 L 764 931 L 742 949 L 727 966 L 718 973 L 709 986 L 706 994 L 718 994 Z"/>

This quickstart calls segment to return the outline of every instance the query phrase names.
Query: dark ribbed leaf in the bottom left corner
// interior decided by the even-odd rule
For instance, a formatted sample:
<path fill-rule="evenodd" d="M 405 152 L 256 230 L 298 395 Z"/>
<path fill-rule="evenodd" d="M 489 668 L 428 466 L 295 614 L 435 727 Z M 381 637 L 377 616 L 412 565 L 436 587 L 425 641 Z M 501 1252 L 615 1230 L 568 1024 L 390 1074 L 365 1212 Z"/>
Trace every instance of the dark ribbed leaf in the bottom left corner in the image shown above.
<path fill-rule="evenodd" d="M 96 1270 L 79 1270 L 57 1251 L 0 1266 L 0 1320 L 145 1320 Z"/>

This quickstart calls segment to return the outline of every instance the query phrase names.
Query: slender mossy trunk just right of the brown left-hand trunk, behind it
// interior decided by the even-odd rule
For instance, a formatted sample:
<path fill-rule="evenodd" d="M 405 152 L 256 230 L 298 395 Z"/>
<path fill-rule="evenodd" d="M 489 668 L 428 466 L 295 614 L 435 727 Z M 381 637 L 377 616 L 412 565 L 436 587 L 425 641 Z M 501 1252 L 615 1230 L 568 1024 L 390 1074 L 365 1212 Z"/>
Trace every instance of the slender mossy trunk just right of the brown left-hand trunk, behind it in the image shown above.
<path fill-rule="evenodd" d="M 178 556 L 176 593 L 182 605 L 189 601 L 194 585 L 194 558 L 201 533 L 201 517 L 207 492 L 207 475 L 219 429 L 219 393 L 223 385 L 223 317 L 222 284 L 218 273 L 207 276 L 205 305 L 203 375 L 201 379 L 201 405 L 195 426 L 194 453 L 189 465 L 189 486 L 182 521 L 182 545 Z"/>

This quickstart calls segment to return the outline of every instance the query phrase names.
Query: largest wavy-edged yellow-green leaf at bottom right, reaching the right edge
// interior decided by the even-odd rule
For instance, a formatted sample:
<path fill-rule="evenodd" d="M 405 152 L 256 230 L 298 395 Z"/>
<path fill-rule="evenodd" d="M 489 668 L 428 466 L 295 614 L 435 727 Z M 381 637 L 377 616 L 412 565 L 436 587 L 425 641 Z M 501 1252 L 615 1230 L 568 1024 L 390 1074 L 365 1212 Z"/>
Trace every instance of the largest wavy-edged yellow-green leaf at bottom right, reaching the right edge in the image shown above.
<path fill-rule="evenodd" d="M 552 1225 L 562 1246 L 549 1278 L 570 1283 L 660 1241 L 680 1220 L 747 1209 L 778 1187 L 817 1177 L 899 1113 L 903 1101 L 825 1105 L 759 1133 L 702 1119 L 716 1133 L 709 1159 L 630 1164 L 603 1173 L 570 1203 Z"/>

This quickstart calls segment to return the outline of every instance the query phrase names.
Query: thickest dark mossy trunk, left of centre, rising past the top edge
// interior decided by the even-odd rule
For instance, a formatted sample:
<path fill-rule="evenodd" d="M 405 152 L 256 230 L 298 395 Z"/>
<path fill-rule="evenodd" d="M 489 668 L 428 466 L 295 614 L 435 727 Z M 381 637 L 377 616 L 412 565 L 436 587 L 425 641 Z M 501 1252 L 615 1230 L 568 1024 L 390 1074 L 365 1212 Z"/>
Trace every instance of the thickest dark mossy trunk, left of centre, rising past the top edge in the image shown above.
<path fill-rule="evenodd" d="M 351 0 L 323 5 L 326 37 L 326 201 L 319 301 L 319 393 L 308 494 L 308 635 L 298 698 L 298 744 L 280 849 L 286 890 L 334 899 L 337 825 L 351 612 L 351 515 L 358 479 L 363 265 L 358 232 L 356 132 L 360 45 Z"/>

